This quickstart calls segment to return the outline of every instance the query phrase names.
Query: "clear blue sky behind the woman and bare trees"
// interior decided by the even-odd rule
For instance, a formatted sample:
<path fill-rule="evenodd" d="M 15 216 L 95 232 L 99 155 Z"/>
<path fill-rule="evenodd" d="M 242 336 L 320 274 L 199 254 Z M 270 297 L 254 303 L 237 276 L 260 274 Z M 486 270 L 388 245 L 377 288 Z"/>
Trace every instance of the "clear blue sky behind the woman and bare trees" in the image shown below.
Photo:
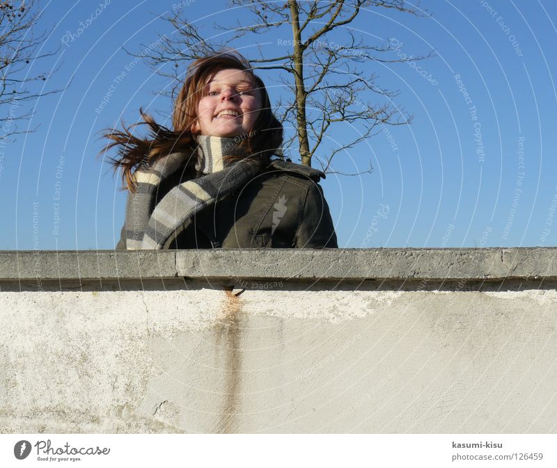
<path fill-rule="evenodd" d="M 38 130 L 19 136 L 0 154 L 0 249 L 116 244 L 125 192 L 109 165 L 96 157 L 100 131 L 122 119 L 136 122 L 140 106 L 155 115 L 169 111 L 168 99 L 157 96 L 168 83 L 122 47 L 139 52 L 157 33 L 170 34 L 157 15 L 171 13 L 176 3 L 82 0 L 64 8 L 61 2 L 44 3 L 42 27 L 53 29 L 45 49 L 59 50 L 32 64 L 33 70 L 59 65 L 45 90 L 66 89 L 39 99 L 29 122 Z M 228 9 L 226 1 L 182 3 L 191 22 L 205 24 L 207 36 L 213 22 L 251 18 L 241 8 Z M 96 15 L 100 4 L 102 13 Z M 387 127 L 389 133 L 381 131 L 336 156 L 338 172 L 366 170 L 370 163 L 374 168 L 361 176 L 331 174 L 322 182 L 339 246 L 555 245 L 557 3 L 428 0 L 421 6 L 432 17 L 375 9 L 350 25 L 371 44 L 393 38 L 404 43 L 401 54 L 434 49 L 437 56 L 419 62 L 421 70 L 407 63 L 361 65 L 366 74 L 378 74 L 382 86 L 400 90 L 393 104 L 413 113 L 414 121 Z M 81 31 L 80 22 L 88 24 Z M 223 41 L 228 34 L 221 35 Z M 256 56 L 257 44 L 275 54 L 281 38 L 291 39 L 276 31 L 230 45 L 248 57 Z M 342 44 L 345 38 L 335 33 L 329 40 Z M 276 101 L 281 82 L 271 72 L 261 76 Z M 106 105 L 95 112 L 109 92 Z M 329 133 L 327 148 L 347 143 L 358 131 L 339 124 Z"/>

